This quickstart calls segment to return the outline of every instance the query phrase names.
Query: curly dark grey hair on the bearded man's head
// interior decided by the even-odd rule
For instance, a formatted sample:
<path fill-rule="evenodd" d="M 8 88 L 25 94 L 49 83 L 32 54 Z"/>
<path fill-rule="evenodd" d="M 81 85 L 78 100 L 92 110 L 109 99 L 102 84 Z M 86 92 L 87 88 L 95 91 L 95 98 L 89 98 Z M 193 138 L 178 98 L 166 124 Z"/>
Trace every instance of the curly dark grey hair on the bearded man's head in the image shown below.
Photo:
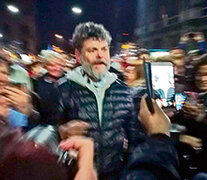
<path fill-rule="evenodd" d="M 108 45 L 110 45 L 112 38 L 109 31 L 102 24 L 86 22 L 77 25 L 72 38 L 74 48 L 81 51 L 83 42 L 87 39 L 106 40 Z"/>

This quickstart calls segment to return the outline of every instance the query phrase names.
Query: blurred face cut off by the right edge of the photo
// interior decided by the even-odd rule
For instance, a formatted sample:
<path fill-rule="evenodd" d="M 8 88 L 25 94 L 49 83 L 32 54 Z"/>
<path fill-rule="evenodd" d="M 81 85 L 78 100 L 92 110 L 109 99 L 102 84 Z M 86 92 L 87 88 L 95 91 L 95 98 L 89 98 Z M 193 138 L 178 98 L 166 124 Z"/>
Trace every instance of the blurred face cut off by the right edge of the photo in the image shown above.
<path fill-rule="evenodd" d="M 196 72 L 196 85 L 197 87 L 207 92 L 207 65 L 202 65 Z"/>

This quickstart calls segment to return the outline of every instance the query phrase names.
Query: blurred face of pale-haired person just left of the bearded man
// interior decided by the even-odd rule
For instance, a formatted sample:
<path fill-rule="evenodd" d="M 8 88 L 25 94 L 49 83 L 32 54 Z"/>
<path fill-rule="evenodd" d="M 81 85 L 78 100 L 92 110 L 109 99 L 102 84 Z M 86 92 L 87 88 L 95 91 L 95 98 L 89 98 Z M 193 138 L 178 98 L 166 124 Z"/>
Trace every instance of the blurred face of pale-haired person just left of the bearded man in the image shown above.
<path fill-rule="evenodd" d="M 54 78 L 61 77 L 63 74 L 63 62 L 62 59 L 52 57 L 48 60 L 45 69 L 48 74 Z"/>

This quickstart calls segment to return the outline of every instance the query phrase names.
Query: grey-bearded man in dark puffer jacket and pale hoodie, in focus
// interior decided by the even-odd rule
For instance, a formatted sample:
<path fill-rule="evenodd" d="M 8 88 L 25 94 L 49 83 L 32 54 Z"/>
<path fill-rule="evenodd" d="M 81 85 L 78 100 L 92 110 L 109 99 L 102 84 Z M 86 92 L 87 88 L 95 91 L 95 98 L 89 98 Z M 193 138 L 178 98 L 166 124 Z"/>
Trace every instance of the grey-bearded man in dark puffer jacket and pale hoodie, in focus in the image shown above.
<path fill-rule="evenodd" d="M 108 71 L 109 32 L 100 24 L 82 23 L 75 28 L 72 40 L 81 66 L 70 73 L 67 88 L 60 86 L 65 114 L 60 124 L 75 119 L 88 123 L 88 135 L 95 141 L 99 179 L 119 179 L 134 146 L 144 141 L 145 133 L 130 89 Z"/>

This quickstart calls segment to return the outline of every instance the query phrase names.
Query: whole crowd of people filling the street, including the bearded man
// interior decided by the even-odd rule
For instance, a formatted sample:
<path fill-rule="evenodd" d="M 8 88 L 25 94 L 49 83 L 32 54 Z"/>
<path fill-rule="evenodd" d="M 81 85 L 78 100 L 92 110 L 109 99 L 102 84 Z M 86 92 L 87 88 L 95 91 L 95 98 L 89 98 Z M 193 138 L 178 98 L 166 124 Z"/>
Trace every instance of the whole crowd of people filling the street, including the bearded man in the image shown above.
<path fill-rule="evenodd" d="M 0 50 L 0 179 L 207 179 L 207 54 L 170 49 L 172 103 L 161 107 L 154 90 L 152 113 L 150 52 L 128 43 L 116 61 L 111 40 L 87 22 L 73 33 L 74 57 L 42 50 L 23 64 Z"/>

